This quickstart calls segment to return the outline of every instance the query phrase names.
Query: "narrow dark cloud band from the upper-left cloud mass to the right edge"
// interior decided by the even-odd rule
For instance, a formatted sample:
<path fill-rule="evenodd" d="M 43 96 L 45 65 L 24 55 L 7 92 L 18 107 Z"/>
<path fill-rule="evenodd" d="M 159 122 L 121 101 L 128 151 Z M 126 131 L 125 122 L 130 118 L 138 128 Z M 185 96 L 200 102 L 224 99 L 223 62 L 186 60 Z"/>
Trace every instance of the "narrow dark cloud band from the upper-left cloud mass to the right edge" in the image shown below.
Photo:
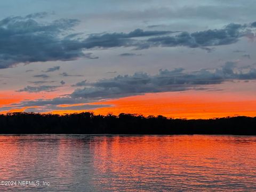
<path fill-rule="evenodd" d="M 180 33 L 179 33 L 180 32 Z M 178 33 L 177 35 L 173 35 Z M 138 39 L 137 37 L 149 37 Z M 95 47 L 119 47 L 133 46 L 135 49 L 148 49 L 149 47 L 201 47 L 206 51 L 213 49 L 207 46 L 220 46 L 236 43 L 241 37 L 254 37 L 250 25 L 240 25 L 230 23 L 222 29 L 209 29 L 188 33 L 186 31 L 143 31 L 136 29 L 130 33 L 107 33 L 92 34 L 84 39 L 85 48 L 92 49 Z"/>

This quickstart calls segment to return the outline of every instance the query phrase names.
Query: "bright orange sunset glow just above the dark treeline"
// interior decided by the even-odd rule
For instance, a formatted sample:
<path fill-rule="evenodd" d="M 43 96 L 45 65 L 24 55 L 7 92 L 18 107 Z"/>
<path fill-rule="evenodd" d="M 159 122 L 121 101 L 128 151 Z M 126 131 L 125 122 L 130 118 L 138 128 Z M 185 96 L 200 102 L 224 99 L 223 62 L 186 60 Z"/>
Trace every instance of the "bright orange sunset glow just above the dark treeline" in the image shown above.
<path fill-rule="evenodd" d="M 37 94 L 19 94 L 3 99 L 0 94 L 0 104 L 10 105 L 13 102 L 20 102 L 23 99 L 33 100 Z M 48 95 L 52 98 L 54 95 Z M 81 105 L 109 105 L 92 110 L 65 110 L 65 107 Z M 27 108 L 12 109 L 1 113 L 24 111 Z M 251 95 L 239 95 L 223 92 L 186 91 L 186 92 L 163 92 L 147 93 L 119 99 L 104 100 L 94 103 L 77 103 L 73 105 L 59 105 L 63 110 L 53 110 L 47 113 L 70 114 L 91 111 L 98 115 L 119 115 L 120 113 L 140 114 L 143 116 L 163 115 L 172 118 L 218 118 L 227 116 L 256 116 L 256 98 Z"/>

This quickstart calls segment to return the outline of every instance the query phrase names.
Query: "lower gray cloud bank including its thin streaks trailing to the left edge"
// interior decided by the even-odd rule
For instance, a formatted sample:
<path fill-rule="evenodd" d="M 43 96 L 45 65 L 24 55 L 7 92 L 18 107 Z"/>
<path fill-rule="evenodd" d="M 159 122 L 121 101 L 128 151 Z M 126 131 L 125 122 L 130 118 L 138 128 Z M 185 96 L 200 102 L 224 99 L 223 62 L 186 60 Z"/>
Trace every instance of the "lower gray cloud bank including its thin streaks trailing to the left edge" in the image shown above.
<path fill-rule="evenodd" d="M 2 110 L 17 109 L 23 107 L 39 106 L 30 108 L 31 111 L 51 111 L 68 109 L 92 109 L 105 107 L 101 105 L 86 105 L 86 103 L 96 102 L 99 99 L 121 98 L 130 95 L 139 95 L 145 93 L 174 92 L 186 90 L 216 90 L 215 87 L 208 85 L 218 85 L 223 82 L 233 80 L 255 80 L 255 65 L 246 67 L 237 67 L 235 62 L 227 62 L 224 66 L 215 69 L 201 69 L 197 71 L 186 72 L 183 68 L 174 70 L 159 70 L 156 75 L 147 73 L 135 73 L 133 75 L 118 75 L 114 78 L 100 79 L 97 82 L 78 82 L 73 86 L 82 86 L 82 89 L 76 89 L 66 97 L 54 99 L 39 99 L 34 101 L 24 100 L 19 103 L 6 105 L 0 108 Z M 27 86 L 22 90 L 27 92 L 54 91 L 55 86 Z M 70 106 L 63 108 L 59 105 L 83 103 L 80 107 Z"/>

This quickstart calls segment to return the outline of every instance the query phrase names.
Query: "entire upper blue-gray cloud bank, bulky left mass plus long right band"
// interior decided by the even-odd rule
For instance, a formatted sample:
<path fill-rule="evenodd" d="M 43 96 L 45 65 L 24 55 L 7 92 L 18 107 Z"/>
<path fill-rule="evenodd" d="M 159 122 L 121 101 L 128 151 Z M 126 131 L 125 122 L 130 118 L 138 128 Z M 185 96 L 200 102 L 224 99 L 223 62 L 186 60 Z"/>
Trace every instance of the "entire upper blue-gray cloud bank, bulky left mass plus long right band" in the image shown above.
<path fill-rule="evenodd" d="M 21 62 L 98 59 L 92 53 L 84 53 L 86 50 L 98 48 L 123 46 L 135 47 L 138 50 L 157 46 L 228 45 L 236 43 L 241 37 L 254 38 L 256 27 L 256 22 L 244 25 L 230 23 L 222 29 L 195 33 L 135 29 L 130 33 L 90 34 L 83 37 L 82 33 L 71 33 L 79 20 L 59 19 L 44 23 L 37 21 L 37 18 L 46 15 L 35 13 L 26 17 L 8 17 L 0 20 L 0 68 L 13 67 Z"/>

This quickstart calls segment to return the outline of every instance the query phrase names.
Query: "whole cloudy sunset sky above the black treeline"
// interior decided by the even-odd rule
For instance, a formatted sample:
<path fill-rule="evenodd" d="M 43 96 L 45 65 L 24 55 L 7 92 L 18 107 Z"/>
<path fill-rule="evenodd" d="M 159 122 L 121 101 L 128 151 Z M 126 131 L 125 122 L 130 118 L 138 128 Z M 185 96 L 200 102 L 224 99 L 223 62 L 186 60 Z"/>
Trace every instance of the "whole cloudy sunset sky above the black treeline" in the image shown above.
<path fill-rule="evenodd" d="M 0 2 L 0 113 L 256 116 L 256 2 Z"/>

